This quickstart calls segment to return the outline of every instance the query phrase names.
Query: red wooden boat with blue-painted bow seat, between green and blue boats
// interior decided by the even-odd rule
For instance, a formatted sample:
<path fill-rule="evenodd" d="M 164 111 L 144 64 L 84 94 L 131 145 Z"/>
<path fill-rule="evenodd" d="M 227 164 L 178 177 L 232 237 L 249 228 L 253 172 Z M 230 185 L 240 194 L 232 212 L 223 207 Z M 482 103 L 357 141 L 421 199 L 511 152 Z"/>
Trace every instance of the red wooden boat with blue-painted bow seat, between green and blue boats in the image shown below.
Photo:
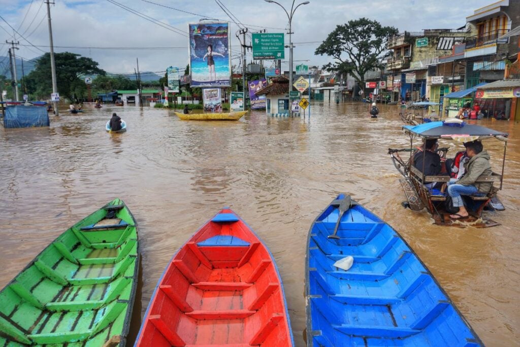
<path fill-rule="evenodd" d="M 294 345 L 275 260 L 233 211 L 221 210 L 173 256 L 136 345 Z"/>

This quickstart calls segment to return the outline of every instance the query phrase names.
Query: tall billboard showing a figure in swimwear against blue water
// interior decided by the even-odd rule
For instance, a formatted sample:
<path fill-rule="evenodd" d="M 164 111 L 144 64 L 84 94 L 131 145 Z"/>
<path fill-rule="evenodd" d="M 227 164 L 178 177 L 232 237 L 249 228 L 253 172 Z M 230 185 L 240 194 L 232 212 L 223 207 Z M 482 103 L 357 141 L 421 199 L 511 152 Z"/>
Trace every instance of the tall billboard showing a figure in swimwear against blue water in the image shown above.
<path fill-rule="evenodd" d="M 229 87 L 231 55 L 229 23 L 188 24 L 193 87 Z"/>

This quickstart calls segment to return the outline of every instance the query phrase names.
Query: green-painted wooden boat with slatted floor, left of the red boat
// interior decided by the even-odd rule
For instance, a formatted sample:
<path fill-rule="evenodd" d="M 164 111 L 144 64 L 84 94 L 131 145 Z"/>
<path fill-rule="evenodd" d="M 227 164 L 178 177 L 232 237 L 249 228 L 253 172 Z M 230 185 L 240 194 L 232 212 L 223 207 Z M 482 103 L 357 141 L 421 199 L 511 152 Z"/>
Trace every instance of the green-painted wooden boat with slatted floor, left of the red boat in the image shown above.
<path fill-rule="evenodd" d="M 137 224 L 115 199 L 0 291 L 0 346 L 124 346 L 138 269 Z"/>

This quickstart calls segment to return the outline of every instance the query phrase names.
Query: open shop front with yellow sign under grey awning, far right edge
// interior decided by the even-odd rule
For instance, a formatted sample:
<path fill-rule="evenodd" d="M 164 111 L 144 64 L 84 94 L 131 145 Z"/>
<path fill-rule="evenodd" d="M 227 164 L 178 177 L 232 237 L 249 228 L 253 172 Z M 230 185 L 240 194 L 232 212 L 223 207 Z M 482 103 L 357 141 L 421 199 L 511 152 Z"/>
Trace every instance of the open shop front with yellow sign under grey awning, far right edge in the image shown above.
<path fill-rule="evenodd" d="M 520 79 L 502 80 L 479 87 L 475 98 L 482 100 L 489 117 L 520 121 Z"/>

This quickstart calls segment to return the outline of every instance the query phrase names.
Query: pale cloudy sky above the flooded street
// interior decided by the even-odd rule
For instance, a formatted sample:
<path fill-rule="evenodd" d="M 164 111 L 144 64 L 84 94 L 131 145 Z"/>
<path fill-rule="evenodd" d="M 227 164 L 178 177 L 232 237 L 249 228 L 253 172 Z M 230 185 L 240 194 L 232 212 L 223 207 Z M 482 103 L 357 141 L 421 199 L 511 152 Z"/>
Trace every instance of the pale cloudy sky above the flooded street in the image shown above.
<path fill-rule="evenodd" d="M 218 6 L 218 1 L 235 18 L 231 19 Z M 278 2 L 285 8 L 292 4 L 291 0 Z M 351 19 L 375 19 L 383 25 L 393 25 L 401 32 L 455 29 L 465 25 L 465 17 L 473 10 L 492 2 L 310 0 L 310 4 L 296 10 L 292 20 L 295 65 L 301 61 L 319 66 L 327 63 L 329 58 L 315 56 L 314 50 L 335 25 Z M 43 0 L 0 0 L 0 27 L 3 29 L 0 30 L 0 57 L 7 55 L 8 46 L 4 42 L 13 38 L 20 41 L 17 55 L 24 59 L 48 52 L 46 6 Z M 139 58 L 142 71 L 160 72 L 168 66 L 185 67 L 188 62 L 188 23 L 196 23 L 202 18 L 231 21 L 232 64 L 237 66 L 240 44 L 235 33 L 240 27 L 248 27 L 249 32 L 266 29 L 271 33 L 288 28 L 288 18 L 282 8 L 263 0 L 55 0 L 55 5 L 51 5 L 51 18 L 55 52 L 68 51 L 90 57 L 98 61 L 102 69 L 112 73 L 133 72 L 136 58 Z M 13 29 L 18 33 L 13 34 Z M 251 38 L 248 36 L 247 40 Z M 285 35 L 285 41 L 286 44 L 289 42 L 288 35 Z M 282 62 L 282 68 L 287 70 L 288 49 L 285 58 L 287 61 Z M 251 52 L 248 52 L 248 62 L 251 59 Z M 266 61 L 266 66 L 271 63 Z"/>

